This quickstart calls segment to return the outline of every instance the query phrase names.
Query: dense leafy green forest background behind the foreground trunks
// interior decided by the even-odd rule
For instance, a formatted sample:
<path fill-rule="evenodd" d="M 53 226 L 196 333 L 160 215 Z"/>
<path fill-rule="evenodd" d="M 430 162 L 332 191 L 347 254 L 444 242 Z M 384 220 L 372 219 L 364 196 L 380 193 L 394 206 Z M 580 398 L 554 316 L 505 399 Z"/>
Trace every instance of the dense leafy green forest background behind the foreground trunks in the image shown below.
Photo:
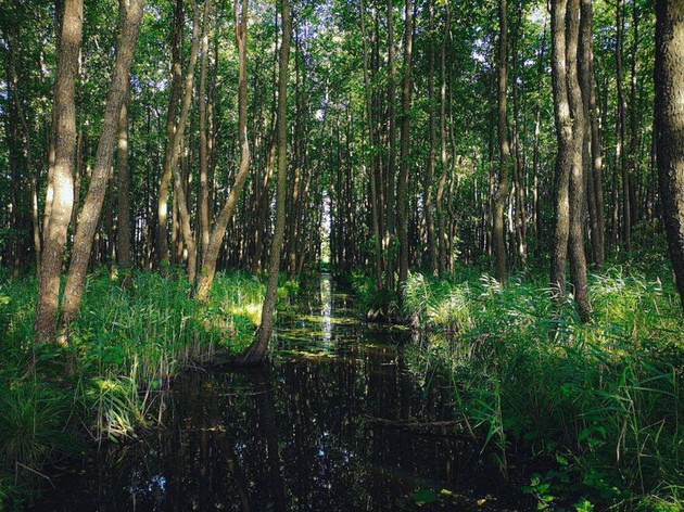
<path fill-rule="evenodd" d="M 411 268 L 444 272 L 455 260 L 491 258 L 502 55 L 508 75 L 510 146 L 505 162 L 510 183 L 504 191 L 507 268 L 544 265 L 555 243 L 557 152 L 546 5 L 525 1 L 505 8 L 504 53 L 497 46 L 497 2 L 417 3 L 409 9 L 408 29 L 405 10 L 391 5 L 388 15 L 388 5 L 371 2 L 359 11 L 356 2 L 292 4 L 286 268 L 294 274 L 320 260 L 324 209 L 330 219 L 326 251 L 339 271 L 370 267 L 378 251 L 387 267 L 392 252 L 398 251 L 392 236 L 401 238 L 400 218 L 407 231 Z M 4 2 L 2 9 L 0 194 L 8 205 L 2 210 L 2 263 L 18 271 L 35 265 L 49 197 L 60 12 L 52 2 Z M 274 4 L 259 2 L 249 9 L 250 172 L 227 226 L 228 243 L 220 247 L 219 265 L 259 271 L 273 225 L 281 38 Z M 69 246 L 98 164 L 119 25 L 116 2 L 87 3 L 84 15 Z M 167 169 L 173 145 L 169 119 L 177 121 L 187 86 L 191 100 L 173 165 L 181 176 L 194 251 L 202 252 L 202 230 L 220 210 L 240 167 L 233 24 L 227 2 L 215 2 L 206 13 L 202 5 L 194 10 L 182 3 L 145 5 L 126 100 L 127 133 L 119 136 L 127 138 L 127 148 L 119 149 L 115 158 L 119 163 L 107 176 L 93 263 L 155 268 L 162 260 L 180 264 L 191 256 L 180 194 L 169 187 Z M 596 148 L 591 148 L 592 165 L 584 178 L 587 202 L 582 223 L 587 228 L 588 264 L 597 268 L 606 255 L 628 258 L 655 246 L 666 252 L 653 137 L 654 26 L 653 2 L 593 2 L 593 62 L 584 73 L 593 75 L 591 137 Z M 202 33 L 200 48 L 192 48 L 193 30 L 194 36 Z M 189 66 L 195 62 L 197 72 Z M 185 84 L 192 73 L 193 80 Z M 409 98 L 404 98 L 403 89 Z M 408 150 L 403 149 L 405 142 Z M 124 151 L 127 159 L 121 156 Z M 405 196 L 405 212 L 392 206 L 396 194 Z M 168 201 L 166 208 L 160 206 L 161 200 Z M 208 212 L 202 209 L 205 205 Z M 160 231 L 163 217 L 168 226 Z M 160 238 L 166 231 L 168 249 Z M 378 238 L 381 243 L 376 243 Z"/>

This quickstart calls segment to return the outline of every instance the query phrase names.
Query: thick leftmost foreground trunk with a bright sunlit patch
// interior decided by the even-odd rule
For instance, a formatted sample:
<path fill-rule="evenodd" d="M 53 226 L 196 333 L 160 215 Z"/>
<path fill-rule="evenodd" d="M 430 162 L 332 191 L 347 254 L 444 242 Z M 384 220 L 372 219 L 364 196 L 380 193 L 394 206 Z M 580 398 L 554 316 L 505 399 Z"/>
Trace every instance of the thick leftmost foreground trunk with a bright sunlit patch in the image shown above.
<path fill-rule="evenodd" d="M 78 52 L 83 34 L 83 0 L 65 0 L 58 47 L 54 86 L 54 166 L 50 214 L 43 232 L 40 284 L 34 331 L 37 342 L 49 342 L 56 332 L 62 255 L 74 204 L 72 165 L 76 152 L 76 106 L 74 102 Z"/>

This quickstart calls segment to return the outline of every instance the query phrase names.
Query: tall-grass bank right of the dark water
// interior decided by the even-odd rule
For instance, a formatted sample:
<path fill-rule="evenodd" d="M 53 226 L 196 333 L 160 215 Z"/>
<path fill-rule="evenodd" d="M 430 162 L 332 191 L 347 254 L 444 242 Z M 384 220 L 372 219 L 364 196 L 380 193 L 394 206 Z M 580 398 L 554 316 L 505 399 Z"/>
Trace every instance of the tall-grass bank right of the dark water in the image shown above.
<path fill-rule="evenodd" d="M 369 309 L 400 308 L 355 278 Z M 546 276 L 506 289 L 473 269 L 415 273 L 397 312 L 413 368 L 453 383 L 454 412 L 503 472 L 533 461 L 540 510 L 682 510 L 684 320 L 664 265 L 590 277 L 594 313 L 552 302 Z M 375 297 L 378 297 L 376 300 Z"/>

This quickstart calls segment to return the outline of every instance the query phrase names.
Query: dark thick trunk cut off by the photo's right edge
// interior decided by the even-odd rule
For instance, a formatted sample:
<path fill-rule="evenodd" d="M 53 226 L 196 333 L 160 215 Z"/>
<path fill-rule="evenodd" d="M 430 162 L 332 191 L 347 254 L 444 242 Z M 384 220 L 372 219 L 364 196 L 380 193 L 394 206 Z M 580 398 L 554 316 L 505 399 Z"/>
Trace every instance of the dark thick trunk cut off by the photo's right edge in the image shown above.
<path fill-rule="evenodd" d="M 656 1 L 655 80 L 660 203 L 684 307 L 684 0 Z"/>

